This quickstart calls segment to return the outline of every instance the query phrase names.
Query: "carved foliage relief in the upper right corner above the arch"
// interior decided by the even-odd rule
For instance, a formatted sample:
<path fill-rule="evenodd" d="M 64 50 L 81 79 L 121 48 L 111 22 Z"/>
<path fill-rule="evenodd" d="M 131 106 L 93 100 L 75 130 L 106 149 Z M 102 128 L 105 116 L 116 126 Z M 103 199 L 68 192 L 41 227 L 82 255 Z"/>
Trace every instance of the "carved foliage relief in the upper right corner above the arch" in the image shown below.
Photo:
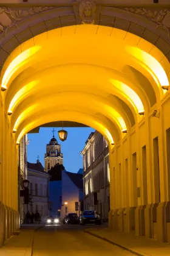
<path fill-rule="evenodd" d="M 168 9 L 153 10 L 145 8 L 124 8 L 124 10 L 145 16 L 149 20 L 154 21 L 157 24 L 155 29 L 161 27 L 161 29 L 165 30 L 168 34 L 168 37 L 170 37 L 170 11 Z"/>

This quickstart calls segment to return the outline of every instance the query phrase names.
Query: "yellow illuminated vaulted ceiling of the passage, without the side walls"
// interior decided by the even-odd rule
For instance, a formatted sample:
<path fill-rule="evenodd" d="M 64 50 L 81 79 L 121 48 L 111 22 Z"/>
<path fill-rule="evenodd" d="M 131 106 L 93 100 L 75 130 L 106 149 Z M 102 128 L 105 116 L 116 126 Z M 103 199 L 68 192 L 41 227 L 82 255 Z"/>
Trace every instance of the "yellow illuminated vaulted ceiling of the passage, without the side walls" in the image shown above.
<path fill-rule="evenodd" d="M 94 127 L 112 148 L 141 114 L 148 115 L 155 99 L 163 98 L 169 80 L 157 55 L 134 46 L 133 35 L 123 40 L 123 30 L 119 37 L 106 30 L 79 25 L 76 33 L 70 26 L 61 34 L 54 29 L 12 52 L 1 88 L 7 89 L 5 109 L 17 143 L 39 125 L 65 120 Z"/>

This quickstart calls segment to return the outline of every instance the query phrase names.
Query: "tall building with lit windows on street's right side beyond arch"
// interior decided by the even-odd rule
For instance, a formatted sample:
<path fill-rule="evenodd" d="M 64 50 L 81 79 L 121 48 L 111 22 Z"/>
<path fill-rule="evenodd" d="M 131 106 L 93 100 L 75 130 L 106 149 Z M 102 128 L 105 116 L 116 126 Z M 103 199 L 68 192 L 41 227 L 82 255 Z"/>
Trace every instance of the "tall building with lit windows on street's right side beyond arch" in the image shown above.
<path fill-rule="evenodd" d="M 84 210 L 97 210 L 103 221 L 109 213 L 109 149 L 99 132 L 90 133 L 83 155 Z"/>

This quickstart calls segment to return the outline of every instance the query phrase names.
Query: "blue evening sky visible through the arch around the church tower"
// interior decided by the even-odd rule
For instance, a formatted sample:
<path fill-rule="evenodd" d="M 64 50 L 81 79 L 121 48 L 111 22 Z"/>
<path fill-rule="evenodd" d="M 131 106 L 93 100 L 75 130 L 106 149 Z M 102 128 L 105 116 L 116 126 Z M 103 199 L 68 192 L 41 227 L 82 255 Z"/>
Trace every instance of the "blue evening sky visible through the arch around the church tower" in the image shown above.
<path fill-rule="evenodd" d="M 40 128 L 39 133 L 29 133 L 28 138 L 30 140 L 27 146 L 27 161 L 30 163 L 36 163 L 37 156 L 39 155 L 39 161 L 44 166 L 44 154 L 46 153 L 46 144 L 49 143 L 53 136 L 52 128 Z M 58 143 L 61 144 L 61 152 L 63 153 L 63 165 L 67 171 L 78 172 L 80 168 L 83 168 L 83 159 L 80 155 L 80 151 L 83 150 L 85 142 L 89 137 L 90 132 L 95 130 L 90 127 L 74 127 L 65 128 L 68 132 L 67 140 L 60 141 L 58 138 L 58 130 L 55 128 L 55 138 Z"/>

